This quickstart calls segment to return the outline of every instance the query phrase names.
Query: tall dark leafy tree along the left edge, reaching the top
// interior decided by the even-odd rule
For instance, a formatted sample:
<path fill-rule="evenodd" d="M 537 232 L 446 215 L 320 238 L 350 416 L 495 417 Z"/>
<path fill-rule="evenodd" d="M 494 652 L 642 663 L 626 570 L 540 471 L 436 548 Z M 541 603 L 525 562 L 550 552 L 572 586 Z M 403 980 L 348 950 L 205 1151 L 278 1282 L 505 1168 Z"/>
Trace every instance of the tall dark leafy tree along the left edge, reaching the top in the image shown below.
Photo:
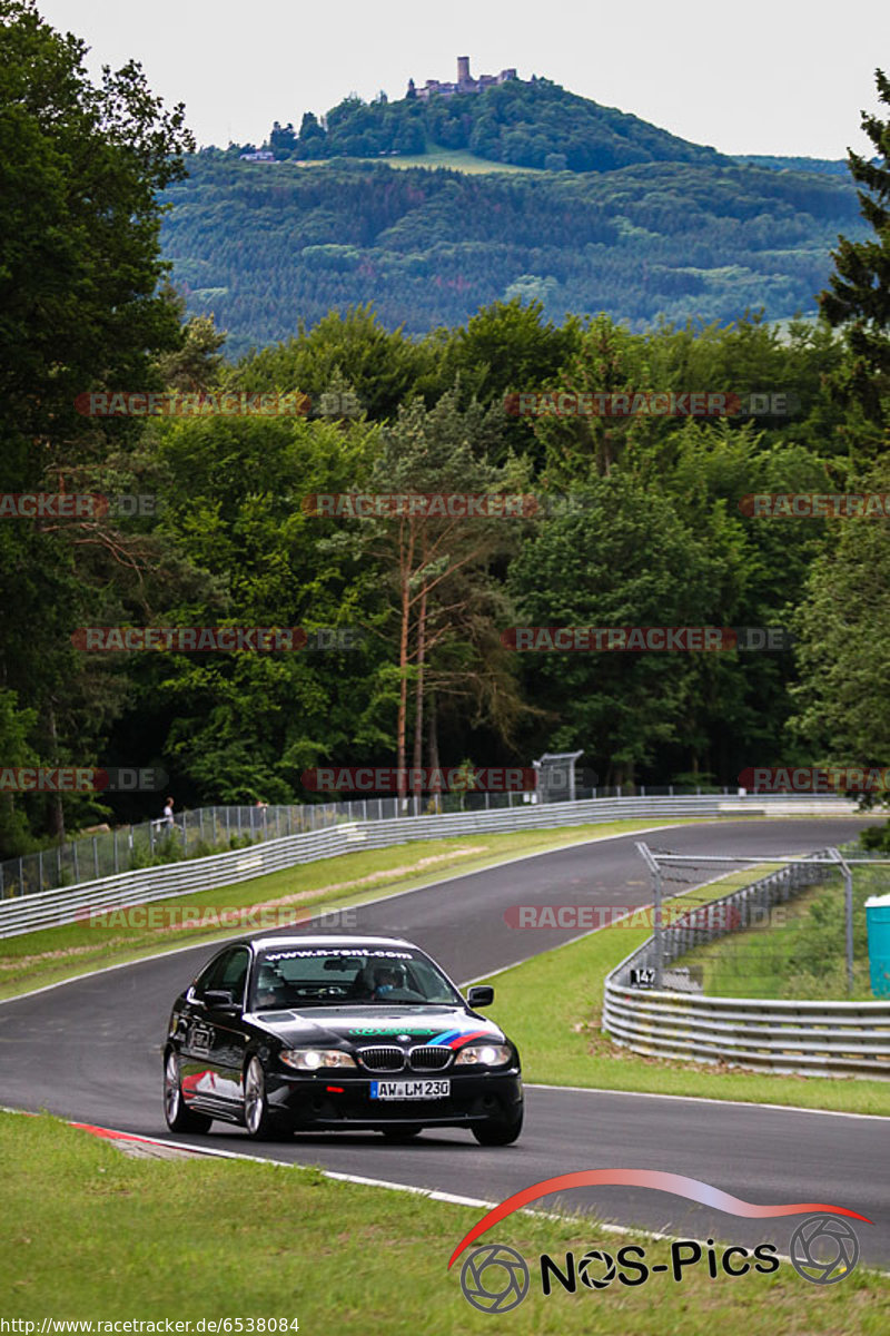
<path fill-rule="evenodd" d="M 159 291 L 157 191 L 183 176 L 193 140 L 181 106 L 164 111 L 135 61 L 93 87 L 85 49 L 31 0 L 0 0 L 3 492 L 73 490 L 125 454 L 132 426 L 100 426 L 75 398 L 149 386 L 152 355 L 180 342 Z M 108 713 L 69 636 L 137 565 L 127 548 L 113 521 L 3 525 L 0 681 L 40 759 L 96 755 Z M 113 712 L 113 691 L 105 699 Z M 41 818 L 39 800 L 31 810 Z M 60 796 L 49 828 L 63 830 Z"/>

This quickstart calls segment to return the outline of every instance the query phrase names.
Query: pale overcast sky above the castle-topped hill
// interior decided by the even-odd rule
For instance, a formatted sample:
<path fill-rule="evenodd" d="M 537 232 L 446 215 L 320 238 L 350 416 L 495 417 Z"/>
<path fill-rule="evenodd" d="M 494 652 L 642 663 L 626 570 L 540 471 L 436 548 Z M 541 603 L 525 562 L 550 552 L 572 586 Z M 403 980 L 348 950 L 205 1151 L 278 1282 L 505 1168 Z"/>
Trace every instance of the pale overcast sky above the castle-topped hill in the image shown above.
<path fill-rule="evenodd" d="M 37 0 L 89 68 L 140 60 L 200 144 L 262 142 L 348 92 L 515 65 L 729 154 L 842 158 L 890 72 L 890 3 L 846 0 Z M 887 110 L 883 108 L 883 118 Z"/>

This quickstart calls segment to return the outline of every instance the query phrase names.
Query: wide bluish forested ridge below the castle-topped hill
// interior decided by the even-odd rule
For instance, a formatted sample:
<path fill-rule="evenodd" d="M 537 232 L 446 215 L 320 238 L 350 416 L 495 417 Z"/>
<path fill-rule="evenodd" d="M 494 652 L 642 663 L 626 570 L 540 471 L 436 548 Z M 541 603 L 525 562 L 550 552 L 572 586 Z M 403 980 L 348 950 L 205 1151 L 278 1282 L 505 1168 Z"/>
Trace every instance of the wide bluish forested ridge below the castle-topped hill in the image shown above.
<path fill-rule="evenodd" d="M 163 246 L 234 355 L 368 301 L 411 334 L 516 295 L 632 329 L 787 319 L 815 310 L 838 232 L 862 232 L 845 179 L 729 160 L 474 175 L 209 151 L 189 170 L 165 191 Z"/>

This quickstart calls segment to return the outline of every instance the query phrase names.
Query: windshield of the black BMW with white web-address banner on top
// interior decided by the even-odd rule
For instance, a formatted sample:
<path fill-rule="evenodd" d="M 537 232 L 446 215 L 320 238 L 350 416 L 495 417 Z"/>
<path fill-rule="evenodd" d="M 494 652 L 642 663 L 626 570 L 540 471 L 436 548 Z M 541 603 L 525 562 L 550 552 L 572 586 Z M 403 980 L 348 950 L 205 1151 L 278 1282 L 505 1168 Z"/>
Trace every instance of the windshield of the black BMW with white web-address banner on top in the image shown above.
<path fill-rule="evenodd" d="M 432 961 L 410 949 L 286 947 L 263 951 L 254 969 L 254 1010 L 307 1006 L 463 1005 Z"/>

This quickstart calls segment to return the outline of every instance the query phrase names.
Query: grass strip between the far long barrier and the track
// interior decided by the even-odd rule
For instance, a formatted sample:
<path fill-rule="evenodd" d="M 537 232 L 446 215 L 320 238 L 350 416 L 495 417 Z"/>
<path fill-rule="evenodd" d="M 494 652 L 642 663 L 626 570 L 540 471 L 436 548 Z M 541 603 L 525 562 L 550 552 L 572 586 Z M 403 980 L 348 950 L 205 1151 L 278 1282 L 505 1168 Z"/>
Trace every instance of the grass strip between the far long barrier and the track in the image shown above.
<path fill-rule="evenodd" d="M 671 822 L 671 824 L 691 824 Z M 212 912 L 230 911 L 250 906 L 290 907 L 295 914 L 312 914 L 319 910 L 332 910 L 360 904 L 363 900 L 382 895 L 395 895 L 400 891 L 428 886 L 443 876 L 462 875 L 510 858 L 519 858 L 548 848 L 562 848 L 579 840 L 603 838 L 607 835 L 627 835 L 632 831 L 651 828 L 652 820 L 602 822 L 591 826 L 572 826 L 563 830 L 531 830 L 498 835 L 472 834 L 458 839 L 418 840 L 410 844 L 396 844 L 392 848 L 344 854 L 318 863 L 303 863 L 256 876 L 250 882 L 221 886 L 217 890 L 201 891 L 199 895 L 183 895 L 175 899 L 155 902 L 164 912 L 176 914 L 203 910 Z M 646 871 L 640 862 L 640 879 Z M 221 931 L 196 927 L 141 927 L 139 919 L 148 906 L 139 906 L 133 912 L 136 923 L 121 926 L 121 915 L 113 915 L 109 926 L 96 926 L 89 922 L 72 923 L 63 927 L 43 929 L 21 937 L 0 939 L 0 998 L 15 997 L 29 989 L 73 978 L 88 970 L 135 961 L 157 951 L 175 950 L 200 942 L 213 942 L 236 937 L 239 931 L 250 931 L 251 923 L 240 929 L 224 927 Z M 254 927 L 266 926 L 256 922 Z M 348 929 L 344 929 L 348 931 Z"/>

